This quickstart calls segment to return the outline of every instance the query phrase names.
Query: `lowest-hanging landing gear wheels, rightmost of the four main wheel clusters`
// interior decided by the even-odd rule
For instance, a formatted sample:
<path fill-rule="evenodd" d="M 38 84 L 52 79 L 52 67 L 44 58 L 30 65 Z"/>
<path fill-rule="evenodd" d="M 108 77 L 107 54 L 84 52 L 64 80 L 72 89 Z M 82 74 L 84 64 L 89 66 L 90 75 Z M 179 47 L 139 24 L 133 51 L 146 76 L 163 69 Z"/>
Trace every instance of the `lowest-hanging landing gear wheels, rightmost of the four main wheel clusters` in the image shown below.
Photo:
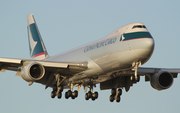
<path fill-rule="evenodd" d="M 110 102 L 113 102 L 114 100 L 116 100 L 116 102 L 120 102 L 121 95 L 122 95 L 122 89 L 118 89 L 116 91 L 115 88 L 112 88 L 111 89 L 111 95 L 109 97 Z"/>

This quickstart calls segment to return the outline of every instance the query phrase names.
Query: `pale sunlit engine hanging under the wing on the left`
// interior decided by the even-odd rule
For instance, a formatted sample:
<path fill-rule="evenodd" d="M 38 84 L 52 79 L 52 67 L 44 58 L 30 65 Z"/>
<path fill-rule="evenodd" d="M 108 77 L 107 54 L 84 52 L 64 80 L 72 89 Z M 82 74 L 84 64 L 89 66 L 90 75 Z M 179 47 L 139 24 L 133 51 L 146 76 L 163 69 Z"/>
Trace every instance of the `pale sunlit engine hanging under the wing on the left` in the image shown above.
<path fill-rule="evenodd" d="M 28 82 L 40 80 L 44 75 L 44 66 L 37 62 L 29 63 L 21 69 L 21 77 Z"/>

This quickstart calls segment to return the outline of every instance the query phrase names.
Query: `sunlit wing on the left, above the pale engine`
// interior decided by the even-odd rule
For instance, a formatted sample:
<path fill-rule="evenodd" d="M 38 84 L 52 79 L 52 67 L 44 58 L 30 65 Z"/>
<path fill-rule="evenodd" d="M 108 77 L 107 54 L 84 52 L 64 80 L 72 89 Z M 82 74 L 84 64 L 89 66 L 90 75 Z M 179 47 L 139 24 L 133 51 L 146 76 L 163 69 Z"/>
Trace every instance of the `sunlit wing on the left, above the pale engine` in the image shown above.
<path fill-rule="evenodd" d="M 25 60 L 13 58 L 0 58 L 0 71 L 6 70 L 21 71 L 21 67 L 30 63 L 39 63 L 45 68 L 69 69 L 69 71 L 79 72 L 87 69 L 87 62 L 52 62 L 42 60 Z"/>

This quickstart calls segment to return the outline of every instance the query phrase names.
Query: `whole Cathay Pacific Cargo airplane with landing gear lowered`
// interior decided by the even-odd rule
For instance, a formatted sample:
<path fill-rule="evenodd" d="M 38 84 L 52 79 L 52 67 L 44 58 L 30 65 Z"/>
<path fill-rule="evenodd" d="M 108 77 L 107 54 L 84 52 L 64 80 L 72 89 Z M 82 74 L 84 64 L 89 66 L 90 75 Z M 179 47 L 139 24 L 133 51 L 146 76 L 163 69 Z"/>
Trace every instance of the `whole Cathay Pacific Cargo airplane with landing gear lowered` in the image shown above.
<path fill-rule="evenodd" d="M 142 23 L 120 27 L 97 41 L 75 49 L 49 56 L 33 14 L 27 16 L 27 29 L 31 59 L 0 58 L 0 71 L 16 71 L 16 75 L 29 83 L 52 88 L 51 97 L 75 99 L 84 87 L 85 100 L 96 100 L 100 90 L 111 90 L 110 102 L 120 102 L 122 89 L 126 92 L 145 76 L 156 90 L 172 86 L 180 69 L 141 67 L 153 54 L 154 39 Z M 77 88 L 74 90 L 74 88 Z"/>

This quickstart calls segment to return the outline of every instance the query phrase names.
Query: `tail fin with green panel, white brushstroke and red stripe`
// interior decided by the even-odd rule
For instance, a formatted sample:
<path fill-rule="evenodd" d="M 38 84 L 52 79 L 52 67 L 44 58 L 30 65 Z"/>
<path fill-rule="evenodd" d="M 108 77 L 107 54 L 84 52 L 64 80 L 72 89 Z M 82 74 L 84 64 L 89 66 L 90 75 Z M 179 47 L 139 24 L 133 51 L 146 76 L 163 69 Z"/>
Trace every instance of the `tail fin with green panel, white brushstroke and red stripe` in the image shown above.
<path fill-rule="evenodd" d="M 39 33 L 33 14 L 27 16 L 27 29 L 31 59 L 43 60 L 49 57 Z"/>

